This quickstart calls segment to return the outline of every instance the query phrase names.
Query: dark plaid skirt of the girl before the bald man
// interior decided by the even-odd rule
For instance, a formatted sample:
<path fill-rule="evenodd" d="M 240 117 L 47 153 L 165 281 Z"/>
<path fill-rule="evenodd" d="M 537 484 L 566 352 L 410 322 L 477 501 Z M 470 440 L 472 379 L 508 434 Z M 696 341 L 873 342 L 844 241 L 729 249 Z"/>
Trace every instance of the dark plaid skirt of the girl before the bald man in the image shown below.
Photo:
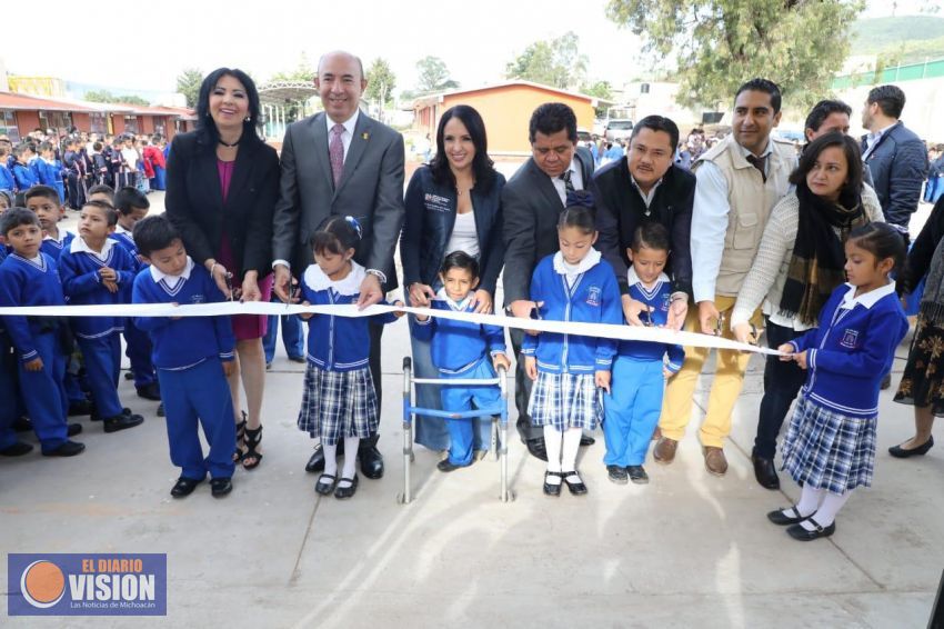
<path fill-rule="evenodd" d="M 308 363 L 299 429 L 325 446 L 344 437 L 366 439 L 376 432 L 376 390 L 370 369 L 325 371 Z"/>

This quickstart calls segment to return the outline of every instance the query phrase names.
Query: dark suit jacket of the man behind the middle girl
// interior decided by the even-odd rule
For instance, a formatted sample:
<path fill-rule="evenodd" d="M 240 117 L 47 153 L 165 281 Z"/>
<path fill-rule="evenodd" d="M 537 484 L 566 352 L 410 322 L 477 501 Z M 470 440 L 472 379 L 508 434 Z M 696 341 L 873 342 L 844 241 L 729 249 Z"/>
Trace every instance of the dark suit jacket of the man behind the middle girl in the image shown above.
<path fill-rule="evenodd" d="M 593 178 L 593 157 L 581 147 L 574 159 L 580 164 L 584 188 Z M 531 299 L 531 274 L 538 262 L 558 251 L 558 217 L 564 206 L 556 188 L 530 158 L 505 183 L 504 213 L 505 270 L 502 276 L 505 303 Z"/>

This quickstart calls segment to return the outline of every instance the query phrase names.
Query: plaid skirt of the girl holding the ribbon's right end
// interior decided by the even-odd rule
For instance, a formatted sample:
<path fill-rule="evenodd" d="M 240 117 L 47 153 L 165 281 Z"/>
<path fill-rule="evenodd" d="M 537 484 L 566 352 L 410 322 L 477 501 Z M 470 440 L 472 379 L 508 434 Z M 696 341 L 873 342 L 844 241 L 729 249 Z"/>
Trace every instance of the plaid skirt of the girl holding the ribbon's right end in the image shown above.
<path fill-rule="evenodd" d="M 877 416 L 847 417 L 803 393 L 783 441 L 783 467 L 793 480 L 831 493 L 870 487 Z"/>

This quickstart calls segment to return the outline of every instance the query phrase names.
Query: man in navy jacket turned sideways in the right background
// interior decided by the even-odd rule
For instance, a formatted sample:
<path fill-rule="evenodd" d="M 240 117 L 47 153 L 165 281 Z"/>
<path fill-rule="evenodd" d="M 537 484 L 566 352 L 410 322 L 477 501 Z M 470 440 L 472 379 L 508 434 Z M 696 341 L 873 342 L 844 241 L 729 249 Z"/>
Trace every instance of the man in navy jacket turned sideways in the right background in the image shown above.
<path fill-rule="evenodd" d="M 927 176 L 927 149 L 898 118 L 905 92 L 897 86 L 880 86 L 868 92 L 862 109 L 862 161 L 868 167 L 885 221 L 907 237 L 911 216 L 921 199 Z"/>

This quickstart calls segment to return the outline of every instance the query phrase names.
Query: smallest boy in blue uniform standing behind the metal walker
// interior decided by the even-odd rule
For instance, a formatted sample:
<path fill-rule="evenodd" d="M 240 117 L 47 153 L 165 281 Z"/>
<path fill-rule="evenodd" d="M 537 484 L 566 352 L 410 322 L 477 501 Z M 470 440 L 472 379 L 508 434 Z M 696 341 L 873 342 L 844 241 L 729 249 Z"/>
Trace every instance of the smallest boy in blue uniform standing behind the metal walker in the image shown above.
<path fill-rule="evenodd" d="M 440 289 L 432 308 L 454 312 L 474 312 L 475 287 L 479 286 L 479 263 L 464 251 L 453 251 L 445 257 L 440 270 Z M 453 319 L 416 317 L 413 332 L 416 338 L 432 339 L 431 355 L 440 378 L 484 380 L 495 377 L 499 367 L 508 369 L 504 328 L 483 326 Z M 442 409 L 452 412 L 470 411 L 473 408 L 494 407 L 501 402 L 501 390 L 496 385 L 470 387 L 440 387 Z M 450 472 L 472 465 L 474 425 L 491 428 L 489 418 L 446 419 L 450 446 L 449 456 L 436 468 Z M 479 435 L 482 431 L 478 431 Z M 481 439 L 481 437 L 480 437 Z M 480 449 L 488 445 L 480 443 Z"/>

